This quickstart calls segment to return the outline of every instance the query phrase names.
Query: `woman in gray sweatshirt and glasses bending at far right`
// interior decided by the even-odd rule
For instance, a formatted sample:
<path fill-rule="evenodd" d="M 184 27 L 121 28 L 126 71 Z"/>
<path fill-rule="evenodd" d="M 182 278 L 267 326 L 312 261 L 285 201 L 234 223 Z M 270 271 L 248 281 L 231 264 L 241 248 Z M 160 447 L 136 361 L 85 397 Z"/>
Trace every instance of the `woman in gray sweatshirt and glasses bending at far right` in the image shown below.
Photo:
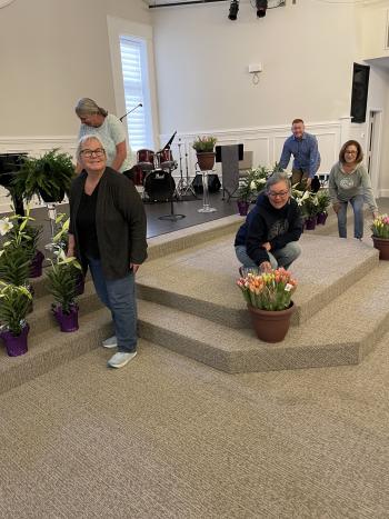
<path fill-rule="evenodd" d="M 353 236 L 363 236 L 363 202 L 369 206 L 372 217 L 378 214 L 378 208 L 371 188 L 370 177 L 361 163 L 362 148 L 356 140 L 348 140 L 339 152 L 337 162 L 329 178 L 329 193 L 335 212 L 338 216 L 340 238 L 347 238 L 347 206 L 350 202 L 353 210 Z"/>

